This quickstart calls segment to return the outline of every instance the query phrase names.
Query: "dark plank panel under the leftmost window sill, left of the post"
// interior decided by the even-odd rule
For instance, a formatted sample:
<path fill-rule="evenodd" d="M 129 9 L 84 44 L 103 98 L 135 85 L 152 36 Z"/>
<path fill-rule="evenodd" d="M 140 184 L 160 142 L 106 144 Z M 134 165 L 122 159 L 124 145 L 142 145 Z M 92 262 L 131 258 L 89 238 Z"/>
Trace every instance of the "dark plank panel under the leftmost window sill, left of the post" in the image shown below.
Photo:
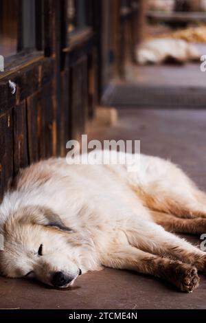
<path fill-rule="evenodd" d="M 43 58 L 0 80 L 0 201 L 21 168 L 54 155 L 53 75 L 52 59 Z M 14 95 L 9 79 L 17 85 Z"/>

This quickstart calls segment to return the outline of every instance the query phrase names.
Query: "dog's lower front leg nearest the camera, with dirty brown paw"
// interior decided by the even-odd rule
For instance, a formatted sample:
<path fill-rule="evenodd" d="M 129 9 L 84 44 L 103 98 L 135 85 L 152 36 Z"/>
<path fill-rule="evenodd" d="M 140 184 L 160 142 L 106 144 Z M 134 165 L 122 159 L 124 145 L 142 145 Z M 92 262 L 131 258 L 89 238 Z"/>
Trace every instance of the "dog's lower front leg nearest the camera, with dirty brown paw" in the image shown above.
<path fill-rule="evenodd" d="M 179 290 L 191 293 L 198 287 L 198 274 L 194 266 L 143 252 L 130 245 L 112 245 L 102 255 L 102 265 L 115 269 L 128 269 L 168 280 Z"/>

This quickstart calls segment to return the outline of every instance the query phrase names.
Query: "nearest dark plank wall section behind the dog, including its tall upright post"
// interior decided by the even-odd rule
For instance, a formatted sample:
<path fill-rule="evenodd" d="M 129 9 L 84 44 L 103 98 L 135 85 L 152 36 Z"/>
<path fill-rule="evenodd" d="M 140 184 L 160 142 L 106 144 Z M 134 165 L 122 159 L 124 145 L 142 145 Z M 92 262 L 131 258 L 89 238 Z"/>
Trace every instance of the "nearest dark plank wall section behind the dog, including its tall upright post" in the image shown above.
<path fill-rule="evenodd" d="M 91 34 L 78 49 L 69 49 L 67 25 L 62 21 L 66 2 L 43 2 L 44 54 L 0 78 L 0 202 L 21 168 L 64 156 L 67 141 L 79 139 L 93 115 L 97 47 Z M 14 95 L 8 80 L 17 85 Z"/>

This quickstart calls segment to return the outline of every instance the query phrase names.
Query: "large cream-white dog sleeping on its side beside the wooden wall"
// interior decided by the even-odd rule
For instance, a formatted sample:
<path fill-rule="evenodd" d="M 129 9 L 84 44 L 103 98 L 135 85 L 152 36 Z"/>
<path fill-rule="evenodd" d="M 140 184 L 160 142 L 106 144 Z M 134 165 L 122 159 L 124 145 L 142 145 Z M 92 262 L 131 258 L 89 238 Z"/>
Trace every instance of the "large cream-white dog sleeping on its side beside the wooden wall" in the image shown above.
<path fill-rule="evenodd" d="M 192 292 L 206 254 L 168 231 L 205 230 L 205 194 L 170 161 L 141 155 L 139 170 L 128 172 L 53 158 L 22 170 L 5 194 L 1 274 L 65 288 L 111 267 Z"/>

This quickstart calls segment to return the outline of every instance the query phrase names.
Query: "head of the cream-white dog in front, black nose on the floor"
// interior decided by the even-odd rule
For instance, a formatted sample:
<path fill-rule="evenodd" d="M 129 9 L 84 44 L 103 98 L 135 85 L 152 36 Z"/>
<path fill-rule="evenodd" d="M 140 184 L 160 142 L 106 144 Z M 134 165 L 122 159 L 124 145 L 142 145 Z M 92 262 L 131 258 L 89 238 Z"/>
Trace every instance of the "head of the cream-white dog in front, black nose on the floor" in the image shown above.
<path fill-rule="evenodd" d="M 1 231 L 4 276 L 32 277 L 53 287 L 68 287 L 82 273 L 79 239 L 52 210 L 22 208 L 8 217 Z"/>

